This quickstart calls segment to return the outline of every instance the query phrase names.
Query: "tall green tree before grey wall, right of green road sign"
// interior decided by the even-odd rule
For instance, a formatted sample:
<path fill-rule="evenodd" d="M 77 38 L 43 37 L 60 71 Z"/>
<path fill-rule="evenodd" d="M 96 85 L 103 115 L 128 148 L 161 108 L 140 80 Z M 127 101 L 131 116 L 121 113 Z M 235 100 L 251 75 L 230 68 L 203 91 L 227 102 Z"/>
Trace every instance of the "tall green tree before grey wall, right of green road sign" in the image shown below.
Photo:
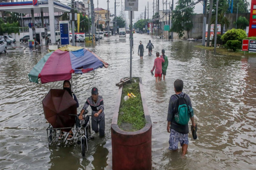
<path fill-rule="evenodd" d="M 192 3 L 192 0 L 179 0 L 176 4 L 174 14 L 173 14 L 173 27 L 170 31 L 178 33 L 179 38 L 182 38 L 184 35 L 184 30 L 188 32 L 189 38 L 189 31 L 193 27 L 193 23 L 191 17 L 194 13 L 194 6 L 186 8 L 182 11 L 180 9 L 189 6 Z"/>

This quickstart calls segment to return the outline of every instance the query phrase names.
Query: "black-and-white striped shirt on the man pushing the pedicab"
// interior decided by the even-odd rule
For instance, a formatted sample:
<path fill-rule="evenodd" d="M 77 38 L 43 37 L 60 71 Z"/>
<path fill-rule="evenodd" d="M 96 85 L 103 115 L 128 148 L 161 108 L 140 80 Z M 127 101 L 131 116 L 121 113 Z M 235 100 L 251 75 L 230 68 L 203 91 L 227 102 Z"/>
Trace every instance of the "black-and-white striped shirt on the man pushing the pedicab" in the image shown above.
<path fill-rule="evenodd" d="M 103 98 L 102 96 L 98 95 L 98 99 L 97 99 L 97 102 L 94 103 L 93 99 L 92 99 L 92 96 L 89 97 L 84 106 L 83 106 L 83 109 L 86 110 L 88 108 L 88 106 L 91 106 L 91 109 L 92 109 L 92 115 L 94 115 L 96 112 L 98 112 L 100 109 L 102 110 L 102 112 L 99 114 L 98 117 L 94 117 L 92 116 L 92 119 L 94 119 L 95 121 L 99 121 L 101 120 L 101 118 L 104 117 L 104 103 L 103 103 Z"/>

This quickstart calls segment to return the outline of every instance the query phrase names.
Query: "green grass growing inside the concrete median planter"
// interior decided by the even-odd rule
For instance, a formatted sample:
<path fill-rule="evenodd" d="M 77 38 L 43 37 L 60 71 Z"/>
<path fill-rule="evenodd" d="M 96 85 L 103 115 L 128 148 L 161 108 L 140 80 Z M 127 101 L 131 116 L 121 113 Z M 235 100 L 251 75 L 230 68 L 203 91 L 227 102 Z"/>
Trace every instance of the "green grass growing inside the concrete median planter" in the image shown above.
<path fill-rule="evenodd" d="M 127 83 L 123 87 L 119 114 L 118 114 L 118 121 L 117 121 L 119 128 L 121 128 L 122 123 L 131 123 L 132 127 L 128 131 L 140 130 L 146 124 L 140 91 L 139 91 L 139 79 L 135 78 L 135 80 L 136 82 L 134 82 L 134 79 L 132 79 L 131 84 Z M 124 97 L 127 96 L 127 93 L 131 93 L 131 92 L 136 97 L 130 98 L 127 101 L 125 101 Z M 124 114 L 120 114 L 121 112 L 124 112 Z M 122 129 L 122 130 L 126 130 L 126 129 Z"/>

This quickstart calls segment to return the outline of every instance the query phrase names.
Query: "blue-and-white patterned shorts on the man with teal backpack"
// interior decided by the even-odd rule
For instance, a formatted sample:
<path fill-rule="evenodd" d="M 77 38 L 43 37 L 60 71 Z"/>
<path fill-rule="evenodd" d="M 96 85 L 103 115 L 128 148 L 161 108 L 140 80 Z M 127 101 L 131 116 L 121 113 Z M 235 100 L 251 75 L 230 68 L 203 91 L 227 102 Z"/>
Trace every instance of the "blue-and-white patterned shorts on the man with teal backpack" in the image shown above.
<path fill-rule="evenodd" d="M 179 133 L 171 129 L 170 139 L 169 139 L 169 150 L 178 149 L 178 143 L 180 142 L 181 146 L 183 144 L 189 144 L 188 134 Z"/>

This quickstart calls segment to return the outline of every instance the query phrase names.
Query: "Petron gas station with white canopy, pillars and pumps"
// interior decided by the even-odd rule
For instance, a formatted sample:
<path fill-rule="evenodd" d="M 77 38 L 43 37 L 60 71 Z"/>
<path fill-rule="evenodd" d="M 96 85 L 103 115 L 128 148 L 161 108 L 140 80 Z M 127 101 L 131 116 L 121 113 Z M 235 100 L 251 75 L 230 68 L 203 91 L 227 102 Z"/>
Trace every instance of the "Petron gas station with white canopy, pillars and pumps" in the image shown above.
<path fill-rule="evenodd" d="M 30 40 L 40 39 L 40 44 L 46 44 L 47 28 L 44 27 L 44 18 L 41 17 L 41 28 L 35 28 L 34 13 L 49 13 L 49 24 L 51 32 L 51 42 L 56 42 L 55 28 L 54 28 L 54 12 L 70 12 L 71 8 L 53 0 L 33 0 L 26 2 L 1 2 L 1 11 L 17 12 L 24 14 L 31 14 L 31 23 L 29 24 L 29 38 Z"/>

